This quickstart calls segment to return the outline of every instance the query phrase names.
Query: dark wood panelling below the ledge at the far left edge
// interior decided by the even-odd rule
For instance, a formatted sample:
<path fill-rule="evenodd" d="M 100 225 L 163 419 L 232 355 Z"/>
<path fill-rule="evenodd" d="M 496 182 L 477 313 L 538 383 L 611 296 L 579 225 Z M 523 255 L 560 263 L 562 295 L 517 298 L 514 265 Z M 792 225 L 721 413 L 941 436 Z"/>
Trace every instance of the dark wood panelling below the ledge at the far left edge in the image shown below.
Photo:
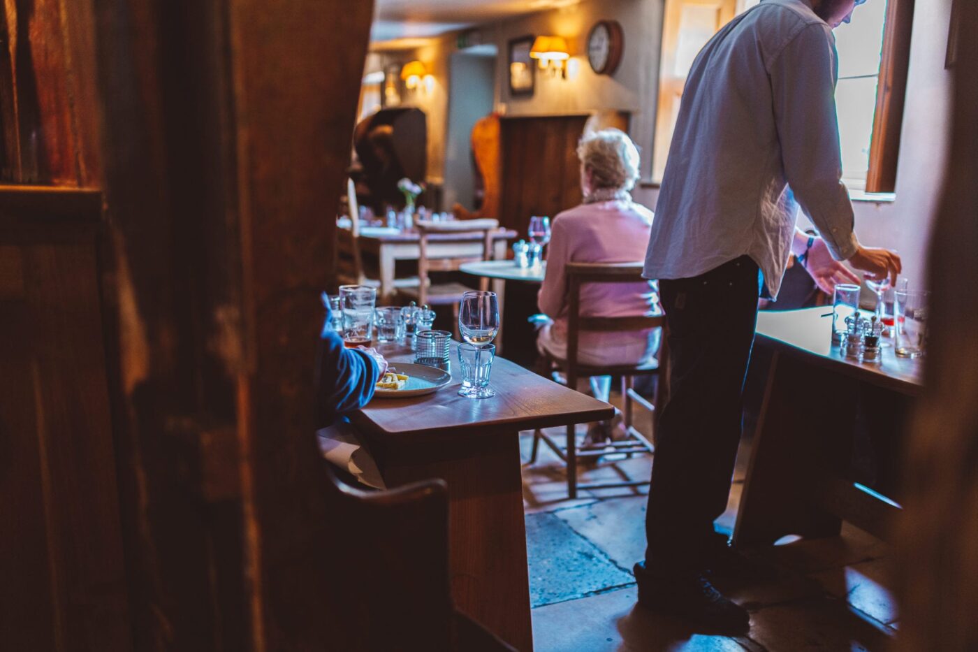
<path fill-rule="evenodd" d="M 85 192 L 46 195 L 0 190 L 0 512 L 17 524 L 0 531 L 0 554 L 16 560 L 0 582 L 0 640 L 10 649 L 124 650 L 101 203 Z"/>

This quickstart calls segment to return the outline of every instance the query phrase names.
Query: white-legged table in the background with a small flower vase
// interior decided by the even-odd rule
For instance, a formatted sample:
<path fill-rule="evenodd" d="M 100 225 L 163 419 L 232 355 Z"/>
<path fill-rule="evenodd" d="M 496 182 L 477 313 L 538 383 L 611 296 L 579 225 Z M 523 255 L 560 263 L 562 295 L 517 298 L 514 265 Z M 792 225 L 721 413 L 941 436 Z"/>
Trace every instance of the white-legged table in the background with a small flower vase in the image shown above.
<path fill-rule="evenodd" d="M 511 229 L 499 229 L 493 236 L 493 256 L 506 257 L 507 241 L 516 237 Z M 360 252 L 378 258 L 378 303 L 388 303 L 394 290 L 394 264 L 397 260 L 417 260 L 421 256 L 417 231 L 398 231 L 386 227 L 360 228 Z M 432 233 L 428 235 L 428 257 L 459 258 L 482 255 L 482 237 L 472 233 Z M 500 282 L 502 285 L 502 282 Z M 495 289 L 494 289 L 495 292 Z"/>

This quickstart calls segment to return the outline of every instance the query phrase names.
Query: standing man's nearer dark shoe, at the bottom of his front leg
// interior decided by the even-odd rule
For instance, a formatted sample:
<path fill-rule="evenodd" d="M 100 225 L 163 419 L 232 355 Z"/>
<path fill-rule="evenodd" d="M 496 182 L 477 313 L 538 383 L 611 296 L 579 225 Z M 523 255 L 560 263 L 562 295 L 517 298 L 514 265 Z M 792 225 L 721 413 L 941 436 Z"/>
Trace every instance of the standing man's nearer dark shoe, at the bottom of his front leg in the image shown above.
<path fill-rule="evenodd" d="M 750 614 L 720 594 L 703 576 L 656 576 L 635 565 L 639 604 L 662 614 L 678 616 L 710 632 L 739 634 L 750 629 Z"/>

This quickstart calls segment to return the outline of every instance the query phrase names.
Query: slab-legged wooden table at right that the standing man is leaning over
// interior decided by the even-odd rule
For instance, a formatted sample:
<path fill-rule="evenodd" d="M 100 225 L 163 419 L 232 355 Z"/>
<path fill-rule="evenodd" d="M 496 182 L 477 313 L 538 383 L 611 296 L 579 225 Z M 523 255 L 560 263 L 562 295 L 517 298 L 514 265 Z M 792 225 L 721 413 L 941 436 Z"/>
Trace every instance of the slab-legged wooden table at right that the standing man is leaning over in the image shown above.
<path fill-rule="evenodd" d="M 882 349 L 880 364 L 831 344 L 831 306 L 758 314 L 758 344 L 773 347 L 761 417 L 733 531 L 735 545 L 784 535 L 834 536 L 842 520 L 885 538 L 900 506 L 845 478 L 859 384 L 917 396 L 922 364 Z M 891 341 L 892 343 L 892 341 Z M 889 396 L 889 395 L 887 395 Z"/>

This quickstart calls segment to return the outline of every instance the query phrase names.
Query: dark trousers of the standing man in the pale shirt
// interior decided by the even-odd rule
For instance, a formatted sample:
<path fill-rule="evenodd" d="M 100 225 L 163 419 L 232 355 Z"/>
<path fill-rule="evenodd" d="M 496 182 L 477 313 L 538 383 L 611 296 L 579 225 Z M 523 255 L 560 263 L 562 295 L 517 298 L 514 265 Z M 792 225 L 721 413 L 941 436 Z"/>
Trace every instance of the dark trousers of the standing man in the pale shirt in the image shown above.
<path fill-rule="evenodd" d="M 645 514 L 645 566 L 653 574 L 702 572 L 716 542 L 713 521 L 727 508 L 740 441 L 758 285 L 749 256 L 659 281 L 671 371 Z"/>

